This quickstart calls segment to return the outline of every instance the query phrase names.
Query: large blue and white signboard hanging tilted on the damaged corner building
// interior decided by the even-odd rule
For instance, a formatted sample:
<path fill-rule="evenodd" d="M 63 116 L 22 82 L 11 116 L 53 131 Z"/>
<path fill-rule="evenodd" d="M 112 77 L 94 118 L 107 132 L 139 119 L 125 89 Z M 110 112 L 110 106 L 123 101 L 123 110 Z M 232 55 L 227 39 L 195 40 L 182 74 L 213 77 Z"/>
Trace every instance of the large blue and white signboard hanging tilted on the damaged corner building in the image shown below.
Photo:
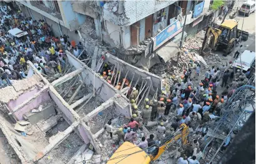
<path fill-rule="evenodd" d="M 154 50 L 164 44 L 166 41 L 179 34 L 182 31 L 182 24 L 180 21 L 175 21 L 167 26 L 155 37 Z"/>

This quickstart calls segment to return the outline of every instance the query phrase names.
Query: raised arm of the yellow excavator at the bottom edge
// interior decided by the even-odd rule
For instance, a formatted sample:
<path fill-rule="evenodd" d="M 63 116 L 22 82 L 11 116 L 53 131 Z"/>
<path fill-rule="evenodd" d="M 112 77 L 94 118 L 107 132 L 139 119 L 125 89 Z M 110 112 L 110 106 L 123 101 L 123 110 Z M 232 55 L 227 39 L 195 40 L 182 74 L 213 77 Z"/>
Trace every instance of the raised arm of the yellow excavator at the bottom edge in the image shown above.
<path fill-rule="evenodd" d="M 180 131 L 182 130 L 182 132 L 180 133 Z M 179 134 L 177 134 L 179 133 Z M 177 135 L 176 135 L 177 134 Z M 149 155 L 150 159 L 152 161 L 157 160 L 162 153 L 165 152 L 165 150 L 167 150 L 170 145 L 172 145 L 172 143 L 174 143 L 175 141 L 181 139 L 182 140 L 182 145 L 187 144 L 187 136 L 189 135 L 189 128 L 187 127 L 187 125 L 185 125 L 185 123 L 182 123 L 180 125 L 180 128 L 174 133 L 174 135 L 172 135 L 172 137 L 170 137 L 169 140 L 167 140 L 162 146 L 160 146 L 159 148 L 157 148 L 157 153 L 156 155 Z"/>

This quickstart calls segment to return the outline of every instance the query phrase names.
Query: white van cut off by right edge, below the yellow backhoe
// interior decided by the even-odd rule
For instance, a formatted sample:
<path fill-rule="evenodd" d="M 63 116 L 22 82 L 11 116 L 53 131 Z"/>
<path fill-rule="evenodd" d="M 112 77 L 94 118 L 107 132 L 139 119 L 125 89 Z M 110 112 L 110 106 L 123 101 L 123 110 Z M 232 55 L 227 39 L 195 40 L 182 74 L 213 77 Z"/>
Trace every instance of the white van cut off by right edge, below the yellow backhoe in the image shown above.
<path fill-rule="evenodd" d="M 241 66 L 241 62 L 242 62 L 242 66 Z M 238 69 L 242 69 L 243 72 L 246 72 L 248 69 L 255 69 L 255 52 L 245 50 L 241 54 L 241 61 L 239 57 L 237 60 L 233 62 L 232 66 Z"/>

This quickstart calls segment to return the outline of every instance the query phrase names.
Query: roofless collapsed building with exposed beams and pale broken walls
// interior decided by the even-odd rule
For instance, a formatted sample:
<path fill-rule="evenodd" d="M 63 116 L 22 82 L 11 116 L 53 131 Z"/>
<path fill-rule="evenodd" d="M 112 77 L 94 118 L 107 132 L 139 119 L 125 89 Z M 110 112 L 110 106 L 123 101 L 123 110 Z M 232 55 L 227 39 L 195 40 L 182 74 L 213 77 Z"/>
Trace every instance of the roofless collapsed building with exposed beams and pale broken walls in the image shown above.
<path fill-rule="evenodd" d="M 21 163 L 81 162 L 90 160 L 94 152 L 105 161 L 114 150 L 109 148 L 111 141 L 103 139 L 105 123 L 112 119 L 113 126 L 120 127 L 132 115 L 126 97 L 129 87 L 116 89 L 94 71 L 102 66 L 101 60 L 93 60 L 91 69 L 66 53 L 67 69 L 51 83 L 51 77 L 44 77 L 28 61 L 27 79 L 0 90 L 0 128 Z M 111 54 L 104 56 L 104 62 L 121 72 L 119 79 L 133 79 L 130 82 L 140 87 L 141 100 L 161 87 L 157 75 Z"/>

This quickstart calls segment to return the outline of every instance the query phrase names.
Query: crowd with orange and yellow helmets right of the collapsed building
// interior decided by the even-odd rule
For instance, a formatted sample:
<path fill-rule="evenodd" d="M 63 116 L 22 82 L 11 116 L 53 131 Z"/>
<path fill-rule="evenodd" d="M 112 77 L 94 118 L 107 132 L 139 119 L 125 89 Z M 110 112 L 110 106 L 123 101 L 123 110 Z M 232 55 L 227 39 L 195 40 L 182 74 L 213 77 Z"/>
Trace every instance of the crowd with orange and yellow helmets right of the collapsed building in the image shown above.
<path fill-rule="evenodd" d="M 107 65 L 106 65 L 107 66 Z M 244 74 L 240 69 L 233 70 L 230 65 L 222 65 L 215 68 L 212 66 L 204 74 L 204 79 L 199 84 L 193 84 L 190 75 L 192 70 L 185 70 L 174 84 L 170 86 L 170 90 L 162 90 L 157 99 L 144 99 L 144 105 L 138 107 L 135 99 L 138 97 L 139 90 L 132 88 L 127 97 L 130 99 L 132 107 L 132 118 L 119 130 L 114 131 L 111 121 L 106 124 L 106 130 L 113 135 L 118 136 L 117 143 L 120 140 L 137 143 L 140 148 L 152 148 L 159 141 L 166 140 L 172 136 L 174 132 L 185 123 L 189 127 L 189 135 L 185 153 L 180 156 L 180 148 L 174 151 L 173 157 L 177 159 L 177 163 L 199 163 L 197 160 L 202 156 L 201 150 L 205 147 L 205 132 L 203 127 L 209 125 L 220 118 L 220 112 L 225 102 L 234 94 L 235 90 L 244 85 L 248 79 L 248 75 Z M 197 65 L 194 73 L 199 77 L 200 65 Z M 111 79 L 112 73 L 109 74 Z M 107 75 L 103 76 L 106 77 Z M 125 81 L 126 79 L 124 79 Z M 221 82 L 221 83 L 220 83 Z M 110 82 L 111 84 L 111 82 Z M 121 85 L 121 83 L 117 83 Z M 126 82 L 130 86 L 129 82 Z M 119 88 L 117 88 L 119 89 Z M 217 92 L 219 90 L 219 92 Z M 140 109 L 139 109 L 140 108 Z M 171 114 L 170 114 L 171 113 Z M 167 127 L 166 120 L 171 120 L 170 127 Z M 155 128 L 156 134 L 150 134 L 149 138 L 142 137 L 140 142 L 136 141 L 136 131 L 149 122 L 157 122 Z M 232 133 L 225 140 L 221 150 L 225 150 L 234 138 L 237 132 Z M 227 135 L 227 134 L 225 134 Z"/>

